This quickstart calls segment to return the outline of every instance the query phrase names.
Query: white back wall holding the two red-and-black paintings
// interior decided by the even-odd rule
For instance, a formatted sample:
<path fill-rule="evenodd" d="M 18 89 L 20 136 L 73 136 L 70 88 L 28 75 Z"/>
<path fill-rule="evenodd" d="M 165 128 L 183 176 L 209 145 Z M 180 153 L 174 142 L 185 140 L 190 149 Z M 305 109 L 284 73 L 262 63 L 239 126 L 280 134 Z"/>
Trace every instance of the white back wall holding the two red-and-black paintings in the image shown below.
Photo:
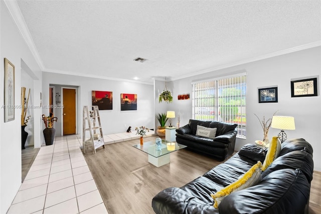
<path fill-rule="evenodd" d="M 114 81 L 89 77 L 72 76 L 56 73 L 43 73 L 43 104 L 49 104 L 49 84 L 79 86 L 78 90 L 78 133 L 82 133 L 82 111 L 84 105 L 92 105 L 91 91 L 112 91 L 113 109 L 99 111 L 104 135 L 126 132 L 131 126 L 154 128 L 154 96 L 153 85 L 136 82 Z M 56 90 L 57 92 L 57 90 Z M 137 94 L 137 111 L 120 111 L 120 93 Z M 48 115 L 49 110 L 44 109 Z M 57 116 L 57 115 L 56 115 Z M 61 123 L 61 120 L 58 123 Z M 57 125 L 56 125 L 57 126 Z M 44 128 L 44 127 L 43 127 Z"/>

